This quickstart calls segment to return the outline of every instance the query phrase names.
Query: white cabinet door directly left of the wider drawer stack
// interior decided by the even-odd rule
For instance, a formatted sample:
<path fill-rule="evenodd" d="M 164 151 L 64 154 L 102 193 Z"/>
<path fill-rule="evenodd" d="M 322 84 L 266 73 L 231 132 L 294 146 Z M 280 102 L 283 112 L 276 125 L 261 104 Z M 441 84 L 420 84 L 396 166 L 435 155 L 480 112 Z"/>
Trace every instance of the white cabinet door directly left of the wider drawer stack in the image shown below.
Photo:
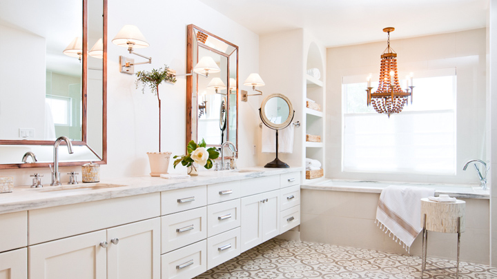
<path fill-rule="evenodd" d="M 160 219 L 107 230 L 108 278 L 160 278 Z"/>

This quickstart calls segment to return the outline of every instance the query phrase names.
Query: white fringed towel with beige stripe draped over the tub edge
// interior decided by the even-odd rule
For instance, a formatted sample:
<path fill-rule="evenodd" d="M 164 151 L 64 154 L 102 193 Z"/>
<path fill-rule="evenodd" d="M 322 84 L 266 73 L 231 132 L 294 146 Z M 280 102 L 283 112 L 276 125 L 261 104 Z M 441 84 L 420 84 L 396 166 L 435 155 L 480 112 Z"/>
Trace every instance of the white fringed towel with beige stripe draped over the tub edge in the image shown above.
<path fill-rule="evenodd" d="M 376 225 L 385 234 L 403 245 L 407 252 L 414 239 L 422 230 L 421 198 L 433 196 L 435 189 L 425 187 L 406 187 L 390 185 L 382 190 L 378 209 L 376 209 Z M 393 236 L 392 236 L 393 235 Z"/>

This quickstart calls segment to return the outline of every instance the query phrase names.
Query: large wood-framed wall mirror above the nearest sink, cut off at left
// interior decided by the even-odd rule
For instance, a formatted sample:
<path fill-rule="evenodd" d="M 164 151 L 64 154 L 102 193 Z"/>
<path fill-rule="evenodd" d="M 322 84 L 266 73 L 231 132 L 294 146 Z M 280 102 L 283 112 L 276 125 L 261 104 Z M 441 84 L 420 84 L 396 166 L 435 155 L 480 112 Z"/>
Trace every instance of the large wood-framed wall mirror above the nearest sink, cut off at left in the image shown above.
<path fill-rule="evenodd" d="M 0 169 L 106 163 L 107 0 L 2 0 Z M 37 163 L 22 163 L 33 152 Z"/>

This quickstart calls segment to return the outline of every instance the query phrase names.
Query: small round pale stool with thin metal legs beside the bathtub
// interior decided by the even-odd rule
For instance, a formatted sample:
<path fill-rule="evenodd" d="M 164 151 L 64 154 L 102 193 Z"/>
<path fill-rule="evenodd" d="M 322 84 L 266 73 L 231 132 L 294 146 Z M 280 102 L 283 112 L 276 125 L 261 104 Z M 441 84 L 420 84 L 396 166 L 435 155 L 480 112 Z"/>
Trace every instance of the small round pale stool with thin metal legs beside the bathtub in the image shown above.
<path fill-rule="evenodd" d="M 425 271 L 454 268 L 456 269 L 456 278 L 459 278 L 460 234 L 465 231 L 465 208 L 466 202 L 464 200 L 456 200 L 455 203 L 440 203 L 428 198 L 421 199 L 421 226 L 423 227 L 421 278 L 423 278 Z M 458 234 L 456 267 L 426 269 L 428 231 Z"/>

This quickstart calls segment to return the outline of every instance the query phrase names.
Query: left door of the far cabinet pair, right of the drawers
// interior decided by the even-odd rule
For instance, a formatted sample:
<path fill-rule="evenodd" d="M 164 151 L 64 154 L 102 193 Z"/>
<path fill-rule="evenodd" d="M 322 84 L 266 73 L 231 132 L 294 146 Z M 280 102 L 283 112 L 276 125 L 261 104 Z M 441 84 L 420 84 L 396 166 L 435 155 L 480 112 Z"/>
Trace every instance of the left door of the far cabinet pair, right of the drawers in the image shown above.
<path fill-rule="evenodd" d="M 242 252 L 262 243 L 262 194 L 242 198 Z"/>

